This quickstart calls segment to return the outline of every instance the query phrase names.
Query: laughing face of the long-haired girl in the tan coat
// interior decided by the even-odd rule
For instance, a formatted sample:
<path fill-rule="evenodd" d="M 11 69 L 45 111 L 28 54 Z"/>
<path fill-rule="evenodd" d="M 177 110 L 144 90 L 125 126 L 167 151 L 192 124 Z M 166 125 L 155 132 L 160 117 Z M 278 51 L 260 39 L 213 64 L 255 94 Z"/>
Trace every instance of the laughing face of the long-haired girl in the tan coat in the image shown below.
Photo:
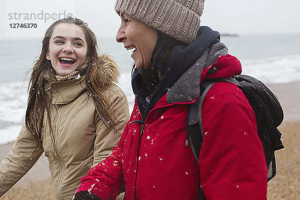
<path fill-rule="evenodd" d="M 46 59 L 57 75 L 68 75 L 83 64 L 87 51 L 85 34 L 80 26 L 59 23 L 49 39 Z"/>

